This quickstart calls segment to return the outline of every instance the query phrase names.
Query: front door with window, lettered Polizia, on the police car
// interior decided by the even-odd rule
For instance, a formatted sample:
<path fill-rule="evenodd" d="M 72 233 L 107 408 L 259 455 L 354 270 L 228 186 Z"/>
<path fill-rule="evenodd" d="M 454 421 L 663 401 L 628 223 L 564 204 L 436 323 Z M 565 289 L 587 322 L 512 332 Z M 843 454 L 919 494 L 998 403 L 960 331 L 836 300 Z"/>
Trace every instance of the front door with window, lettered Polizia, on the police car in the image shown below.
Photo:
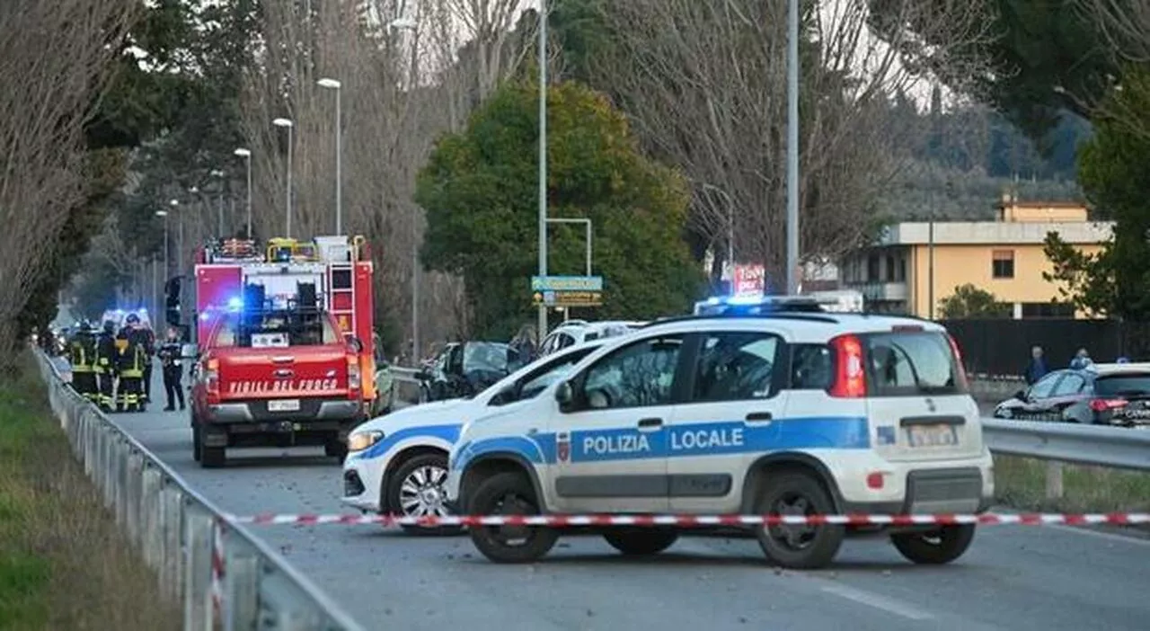
<path fill-rule="evenodd" d="M 550 485 L 560 512 L 660 512 L 667 431 L 683 335 L 637 340 L 581 370 L 573 401 L 552 417 Z"/>

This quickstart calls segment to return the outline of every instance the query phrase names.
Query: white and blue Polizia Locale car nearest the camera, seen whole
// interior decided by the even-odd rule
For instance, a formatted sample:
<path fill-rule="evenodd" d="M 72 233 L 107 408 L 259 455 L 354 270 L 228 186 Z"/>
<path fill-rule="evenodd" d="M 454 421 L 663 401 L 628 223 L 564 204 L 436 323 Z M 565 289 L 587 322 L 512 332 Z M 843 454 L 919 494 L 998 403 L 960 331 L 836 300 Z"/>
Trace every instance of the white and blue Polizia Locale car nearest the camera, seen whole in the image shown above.
<path fill-rule="evenodd" d="M 980 512 L 994 495 L 959 350 L 934 322 L 810 305 L 670 319 L 604 345 L 570 375 L 463 426 L 450 505 L 471 515 L 895 515 Z M 756 535 L 770 561 L 819 568 L 861 530 L 772 525 Z M 974 526 L 887 534 L 913 562 L 948 563 Z M 529 562 L 559 533 L 470 535 L 492 561 Z M 678 532 L 603 535 L 624 554 L 654 554 Z"/>

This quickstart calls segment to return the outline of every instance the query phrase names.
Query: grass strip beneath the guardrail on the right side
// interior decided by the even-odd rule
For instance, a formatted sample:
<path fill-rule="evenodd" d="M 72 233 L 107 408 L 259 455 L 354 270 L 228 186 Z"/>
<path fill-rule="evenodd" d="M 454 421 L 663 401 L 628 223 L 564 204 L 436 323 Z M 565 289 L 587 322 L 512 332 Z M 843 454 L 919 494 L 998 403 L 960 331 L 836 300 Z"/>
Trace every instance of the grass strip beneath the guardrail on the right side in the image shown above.
<path fill-rule="evenodd" d="M 1061 512 L 1150 511 L 1150 472 L 1063 465 L 1063 497 L 1046 500 L 1046 463 L 995 456 L 995 495 L 1021 510 Z"/>

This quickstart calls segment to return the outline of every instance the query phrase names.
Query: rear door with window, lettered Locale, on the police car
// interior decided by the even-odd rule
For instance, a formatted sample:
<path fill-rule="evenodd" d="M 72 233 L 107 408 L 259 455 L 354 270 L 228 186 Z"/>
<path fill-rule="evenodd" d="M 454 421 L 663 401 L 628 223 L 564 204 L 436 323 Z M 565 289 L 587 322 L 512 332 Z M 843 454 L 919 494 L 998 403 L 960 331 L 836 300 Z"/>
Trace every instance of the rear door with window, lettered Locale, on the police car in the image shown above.
<path fill-rule="evenodd" d="M 672 511 L 736 512 L 747 467 L 777 447 L 787 344 L 757 328 L 700 333 L 687 343 L 685 401 L 667 432 Z"/>

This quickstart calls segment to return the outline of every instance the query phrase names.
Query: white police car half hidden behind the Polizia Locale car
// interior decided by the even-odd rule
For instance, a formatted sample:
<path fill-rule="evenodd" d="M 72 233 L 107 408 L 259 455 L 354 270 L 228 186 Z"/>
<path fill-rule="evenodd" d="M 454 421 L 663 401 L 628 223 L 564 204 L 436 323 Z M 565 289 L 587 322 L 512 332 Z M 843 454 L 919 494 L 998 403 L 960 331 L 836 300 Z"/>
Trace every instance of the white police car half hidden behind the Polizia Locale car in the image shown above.
<path fill-rule="evenodd" d="M 474 398 L 424 403 L 360 425 L 347 438 L 342 501 L 385 515 L 447 515 L 443 504 L 447 451 L 463 423 L 539 394 L 600 343 L 589 342 L 538 359 Z"/>

